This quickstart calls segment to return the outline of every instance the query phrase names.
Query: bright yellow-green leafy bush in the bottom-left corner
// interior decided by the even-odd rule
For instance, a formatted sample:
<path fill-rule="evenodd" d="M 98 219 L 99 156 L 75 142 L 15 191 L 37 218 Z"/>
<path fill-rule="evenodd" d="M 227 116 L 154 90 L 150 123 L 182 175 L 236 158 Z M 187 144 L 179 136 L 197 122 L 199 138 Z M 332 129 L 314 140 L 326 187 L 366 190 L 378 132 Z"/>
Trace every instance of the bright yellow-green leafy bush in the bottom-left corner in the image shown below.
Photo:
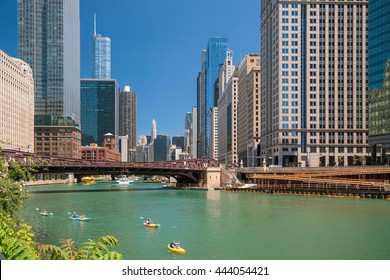
<path fill-rule="evenodd" d="M 27 225 L 17 226 L 10 216 L 0 213 L 0 251 L 7 260 L 37 260 L 34 234 Z"/>

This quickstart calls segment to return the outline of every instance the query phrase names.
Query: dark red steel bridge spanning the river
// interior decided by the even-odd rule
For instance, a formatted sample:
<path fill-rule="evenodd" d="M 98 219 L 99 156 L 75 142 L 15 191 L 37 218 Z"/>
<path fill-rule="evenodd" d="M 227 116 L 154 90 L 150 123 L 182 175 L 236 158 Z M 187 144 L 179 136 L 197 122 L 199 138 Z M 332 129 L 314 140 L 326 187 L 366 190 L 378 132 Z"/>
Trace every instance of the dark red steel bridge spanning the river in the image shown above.
<path fill-rule="evenodd" d="M 209 167 L 218 167 L 213 159 L 192 159 L 164 162 L 113 162 L 91 161 L 64 157 L 38 156 L 17 150 L 1 150 L 7 161 L 16 160 L 21 165 L 34 166 L 39 173 L 73 173 L 78 180 L 86 175 L 158 175 L 173 177 L 177 184 L 199 184 L 205 179 Z"/>

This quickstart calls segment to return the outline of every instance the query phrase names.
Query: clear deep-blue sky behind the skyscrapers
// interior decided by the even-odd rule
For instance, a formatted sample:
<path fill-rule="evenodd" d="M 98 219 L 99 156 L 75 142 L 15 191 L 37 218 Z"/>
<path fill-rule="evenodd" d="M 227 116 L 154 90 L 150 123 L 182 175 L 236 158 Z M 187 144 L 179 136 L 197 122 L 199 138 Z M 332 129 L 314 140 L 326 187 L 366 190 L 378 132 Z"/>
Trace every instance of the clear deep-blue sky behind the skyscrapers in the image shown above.
<path fill-rule="evenodd" d="M 17 56 L 17 1 L 1 0 L 0 49 Z M 259 0 L 80 0 L 81 78 L 89 77 L 93 14 L 111 38 L 111 76 L 137 93 L 137 136 L 184 135 L 196 105 L 196 77 L 210 37 L 228 38 L 237 64 L 260 52 Z"/>

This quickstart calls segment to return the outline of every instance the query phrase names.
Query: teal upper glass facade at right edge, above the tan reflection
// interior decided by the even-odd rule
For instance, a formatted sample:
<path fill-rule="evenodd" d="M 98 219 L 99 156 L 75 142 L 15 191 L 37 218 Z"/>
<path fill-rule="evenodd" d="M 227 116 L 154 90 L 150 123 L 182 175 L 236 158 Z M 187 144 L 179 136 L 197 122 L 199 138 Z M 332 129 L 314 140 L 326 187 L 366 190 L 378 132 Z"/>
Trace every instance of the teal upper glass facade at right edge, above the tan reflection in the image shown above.
<path fill-rule="evenodd" d="M 390 1 L 370 0 L 368 6 L 368 88 L 382 88 L 385 64 L 390 58 Z"/>

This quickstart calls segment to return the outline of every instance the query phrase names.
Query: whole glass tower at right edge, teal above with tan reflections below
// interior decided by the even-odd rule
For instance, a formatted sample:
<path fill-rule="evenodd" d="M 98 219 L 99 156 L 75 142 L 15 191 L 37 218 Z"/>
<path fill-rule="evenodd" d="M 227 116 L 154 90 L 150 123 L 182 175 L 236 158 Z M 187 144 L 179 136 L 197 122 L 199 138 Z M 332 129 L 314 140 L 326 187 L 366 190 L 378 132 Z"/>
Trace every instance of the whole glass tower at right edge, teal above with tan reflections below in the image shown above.
<path fill-rule="evenodd" d="M 390 154 L 390 118 L 388 105 L 390 60 L 390 1 L 370 0 L 368 6 L 368 89 L 370 90 L 370 125 L 368 142 L 372 159 L 387 162 Z M 387 65 L 387 68 L 386 68 Z M 385 75 L 387 78 L 385 80 Z"/>

